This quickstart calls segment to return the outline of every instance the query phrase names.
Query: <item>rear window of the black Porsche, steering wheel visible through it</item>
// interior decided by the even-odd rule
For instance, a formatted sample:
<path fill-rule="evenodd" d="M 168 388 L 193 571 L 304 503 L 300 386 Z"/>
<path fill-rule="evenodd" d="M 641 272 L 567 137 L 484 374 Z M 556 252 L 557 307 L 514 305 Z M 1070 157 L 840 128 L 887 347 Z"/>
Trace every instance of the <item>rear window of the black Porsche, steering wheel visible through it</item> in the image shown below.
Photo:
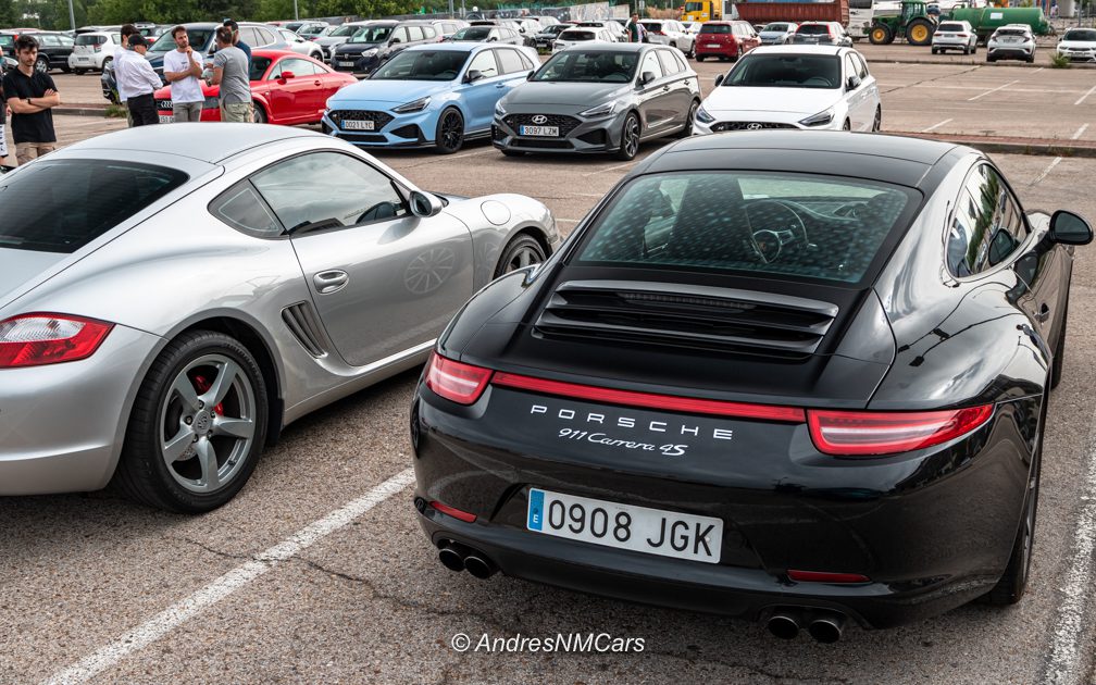
<path fill-rule="evenodd" d="M 799 173 L 680 172 L 629 183 L 578 263 L 858 283 L 914 191 Z"/>

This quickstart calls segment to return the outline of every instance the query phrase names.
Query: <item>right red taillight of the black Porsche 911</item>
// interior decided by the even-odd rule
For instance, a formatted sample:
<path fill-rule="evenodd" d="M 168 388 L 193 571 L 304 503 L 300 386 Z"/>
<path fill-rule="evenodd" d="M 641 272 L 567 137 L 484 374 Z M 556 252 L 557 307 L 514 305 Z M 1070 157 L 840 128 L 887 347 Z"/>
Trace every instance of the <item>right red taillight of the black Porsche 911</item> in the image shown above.
<path fill-rule="evenodd" d="M 882 455 L 932 447 L 978 429 L 993 406 L 946 411 L 865 412 L 808 410 L 814 446 L 829 455 Z"/>

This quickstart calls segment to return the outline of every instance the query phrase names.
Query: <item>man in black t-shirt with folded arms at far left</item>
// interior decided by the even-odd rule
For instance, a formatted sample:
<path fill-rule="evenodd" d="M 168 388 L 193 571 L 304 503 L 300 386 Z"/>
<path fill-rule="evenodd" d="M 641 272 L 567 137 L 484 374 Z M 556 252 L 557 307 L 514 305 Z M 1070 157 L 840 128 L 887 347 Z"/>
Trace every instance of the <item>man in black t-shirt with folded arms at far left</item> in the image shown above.
<path fill-rule="evenodd" d="M 49 75 L 34 68 L 38 59 L 38 42 L 30 34 L 23 34 L 15 38 L 14 47 L 19 68 L 4 75 L 3 93 L 11 110 L 15 161 L 25 164 L 57 149 L 50 110 L 61 103 L 61 96 Z"/>

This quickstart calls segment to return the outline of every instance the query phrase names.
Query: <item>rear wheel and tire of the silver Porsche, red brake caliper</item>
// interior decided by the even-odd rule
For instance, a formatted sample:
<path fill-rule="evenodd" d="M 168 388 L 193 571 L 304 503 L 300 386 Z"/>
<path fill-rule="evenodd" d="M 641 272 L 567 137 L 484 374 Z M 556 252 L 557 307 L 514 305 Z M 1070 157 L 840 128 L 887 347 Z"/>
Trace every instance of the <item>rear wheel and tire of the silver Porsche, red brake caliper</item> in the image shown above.
<path fill-rule="evenodd" d="M 229 374 L 224 388 L 218 381 Z M 226 418 L 238 420 L 231 431 L 218 429 Z M 248 349 L 215 331 L 183 333 L 141 381 L 113 482 L 150 506 L 192 514 L 217 509 L 254 470 L 266 419 L 266 383 Z M 165 450 L 179 456 L 169 464 Z M 212 487 L 210 471 L 218 480 Z"/>

